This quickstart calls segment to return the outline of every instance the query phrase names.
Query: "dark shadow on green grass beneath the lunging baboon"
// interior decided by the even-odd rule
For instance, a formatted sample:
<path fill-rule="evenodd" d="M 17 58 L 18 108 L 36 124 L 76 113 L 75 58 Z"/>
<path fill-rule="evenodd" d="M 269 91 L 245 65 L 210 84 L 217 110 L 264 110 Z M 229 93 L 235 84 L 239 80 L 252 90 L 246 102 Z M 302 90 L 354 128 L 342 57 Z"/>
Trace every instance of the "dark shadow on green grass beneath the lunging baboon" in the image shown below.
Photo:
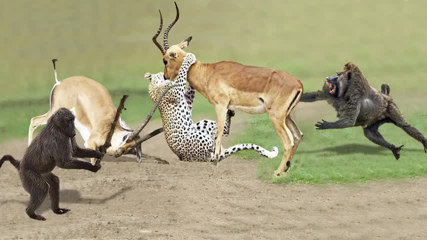
<path fill-rule="evenodd" d="M 342 144 L 342 145 L 336 145 L 336 146 L 328 146 L 323 149 L 315 149 L 315 150 L 305 150 L 305 151 L 298 151 L 299 153 L 322 153 L 322 152 L 334 152 L 336 154 L 353 154 L 353 153 L 364 153 L 369 155 L 380 155 L 385 154 L 386 151 L 389 151 L 388 149 L 381 147 L 381 146 L 375 146 L 375 145 L 368 145 L 368 144 L 359 144 L 359 143 L 349 143 L 349 144 Z M 415 149 L 415 148 L 405 148 L 403 146 L 402 151 L 422 151 L 422 149 Z"/>

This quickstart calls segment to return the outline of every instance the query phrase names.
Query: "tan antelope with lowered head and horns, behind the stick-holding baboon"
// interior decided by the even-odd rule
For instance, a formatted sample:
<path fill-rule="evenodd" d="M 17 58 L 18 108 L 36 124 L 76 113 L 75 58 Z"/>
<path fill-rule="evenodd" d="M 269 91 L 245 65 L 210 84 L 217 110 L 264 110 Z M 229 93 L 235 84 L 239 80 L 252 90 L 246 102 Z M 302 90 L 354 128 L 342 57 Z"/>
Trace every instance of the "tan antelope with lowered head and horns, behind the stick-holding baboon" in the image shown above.
<path fill-rule="evenodd" d="M 43 115 L 31 118 L 28 130 L 28 145 L 32 141 L 34 130 L 39 125 L 47 123 L 47 119 L 59 108 L 70 109 L 75 115 L 74 124 L 84 140 L 84 146 L 89 149 L 99 149 L 104 146 L 109 131 L 112 129 L 110 146 L 105 149 L 107 155 L 118 157 L 122 154 L 136 155 L 137 161 L 142 157 L 149 157 L 141 151 L 140 142 L 147 139 L 139 139 L 139 132 L 148 122 L 158 102 L 154 104 L 152 111 L 144 119 L 143 123 L 132 130 L 121 117 L 117 120 L 115 108 L 108 90 L 95 80 L 85 76 L 71 76 L 59 81 L 57 78 L 55 61 L 52 59 L 56 83 L 50 92 L 50 109 Z M 114 124 L 112 126 L 112 124 Z M 162 128 L 155 132 L 159 133 Z M 95 164 L 96 159 L 90 159 Z M 167 161 L 155 158 L 156 162 Z"/>

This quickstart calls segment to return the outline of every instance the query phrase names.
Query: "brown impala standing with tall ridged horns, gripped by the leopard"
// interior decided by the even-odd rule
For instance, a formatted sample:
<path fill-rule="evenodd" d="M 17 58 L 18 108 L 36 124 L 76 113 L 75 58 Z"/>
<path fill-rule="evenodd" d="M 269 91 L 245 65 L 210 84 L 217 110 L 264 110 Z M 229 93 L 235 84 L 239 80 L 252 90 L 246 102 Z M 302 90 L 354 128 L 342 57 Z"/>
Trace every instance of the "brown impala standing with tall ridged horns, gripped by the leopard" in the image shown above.
<path fill-rule="evenodd" d="M 188 37 L 169 47 L 169 30 L 179 18 L 176 3 L 175 8 L 176 17 L 164 31 L 163 46 L 156 39 L 163 23 L 161 12 L 160 27 L 152 38 L 163 55 L 166 79 L 176 77 L 186 54 L 182 49 L 191 40 Z M 218 132 L 223 131 L 227 109 L 239 109 L 251 114 L 267 112 L 283 145 L 282 160 L 274 173 L 279 175 L 289 168 L 290 160 L 302 138 L 302 132 L 289 114 L 302 95 L 302 84 L 297 78 L 284 71 L 247 66 L 233 61 L 196 61 L 188 71 L 187 81 L 215 106 Z M 221 134 L 218 134 L 215 146 L 220 145 Z M 220 150 L 220 147 L 215 147 L 215 157 Z"/>

